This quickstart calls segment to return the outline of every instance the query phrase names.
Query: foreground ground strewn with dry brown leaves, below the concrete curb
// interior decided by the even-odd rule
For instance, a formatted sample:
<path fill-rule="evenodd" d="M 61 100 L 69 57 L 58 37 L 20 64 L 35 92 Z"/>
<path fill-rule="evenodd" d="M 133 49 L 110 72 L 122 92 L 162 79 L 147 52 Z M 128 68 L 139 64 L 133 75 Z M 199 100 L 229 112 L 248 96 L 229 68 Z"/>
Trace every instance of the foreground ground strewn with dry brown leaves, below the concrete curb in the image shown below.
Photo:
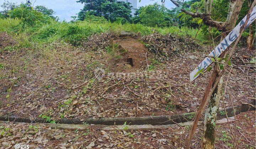
<path fill-rule="evenodd" d="M 234 121 L 230 123 L 233 129 Z M 255 111 L 236 116 L 238 148 L 255 148 Z M 183 147 L 190 127 L 167 128 L 153 131 L 103 131 L 102 126 L 91 126 L 85 131 L 50 128 L 41 123 L 12 123 L 0 121 L 0 148 L 13 148 L 17 143 L 30 148 L 171 148 Z M 192 140 L 192 148 L 201 147 L 203 125 L 199 125 Z M 216 125 L 215 147 L 233 148 L 228 124 Z"/>

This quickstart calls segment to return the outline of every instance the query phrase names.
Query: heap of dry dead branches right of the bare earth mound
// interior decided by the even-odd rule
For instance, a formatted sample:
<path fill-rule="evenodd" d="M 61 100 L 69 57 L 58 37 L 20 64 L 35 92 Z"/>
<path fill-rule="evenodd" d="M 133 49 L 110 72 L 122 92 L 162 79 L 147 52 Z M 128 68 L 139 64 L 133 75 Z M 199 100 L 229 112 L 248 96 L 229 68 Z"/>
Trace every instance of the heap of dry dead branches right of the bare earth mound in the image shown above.
<path fill-rule="evenodd" d="M 190 38 L 177 35 L 154 33 L 141 37 L 149 51 L 156 54 L 159 60 L 168 60 L 182 51 L 197 50 L 199 45 Z"/>

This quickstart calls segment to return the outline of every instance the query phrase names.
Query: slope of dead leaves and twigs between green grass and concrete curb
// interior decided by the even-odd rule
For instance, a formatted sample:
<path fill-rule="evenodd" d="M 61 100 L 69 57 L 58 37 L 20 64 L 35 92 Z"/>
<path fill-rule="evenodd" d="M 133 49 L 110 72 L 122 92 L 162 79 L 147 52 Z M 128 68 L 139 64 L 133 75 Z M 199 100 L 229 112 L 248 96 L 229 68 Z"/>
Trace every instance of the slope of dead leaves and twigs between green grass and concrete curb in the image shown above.
<path fill-rule="evenodd" d="M 165 62 L 155 59 L 142 43 L 131 37 L 117 38 L 109 48 L 112 51 L 95 52 L 67 45 L 55 53 L 54 59 L 31 57 L 26 50 L 19 51 L 17 56 L 15 51 L 5 51 L 0 59 L 5 65 L 1 71 L 0 115 L 31 120 L 39 115 L 51 120 L 86 120 L 196 111 L 209 73 L 193 83 L 189 82 L 189 73 L 208 54 L 204 52 L 207 47 L 202 51 L 181 52 Z M 137 50 L 132 52 L 134 49 Z M 237 51 L 248 53 L 244 48 Z M 250 55 L 255 57 L 255 53 Z M 127 63 L 130 56 L 135 67 Z M 10 73 L 13 66 L 14 74 Z M 255 96 L 255 70 L 243 69 L 233 69 L 228 81 L 235 105 Z M 226 106 L 230 106 L 229 95 L 224 97 Z"/>

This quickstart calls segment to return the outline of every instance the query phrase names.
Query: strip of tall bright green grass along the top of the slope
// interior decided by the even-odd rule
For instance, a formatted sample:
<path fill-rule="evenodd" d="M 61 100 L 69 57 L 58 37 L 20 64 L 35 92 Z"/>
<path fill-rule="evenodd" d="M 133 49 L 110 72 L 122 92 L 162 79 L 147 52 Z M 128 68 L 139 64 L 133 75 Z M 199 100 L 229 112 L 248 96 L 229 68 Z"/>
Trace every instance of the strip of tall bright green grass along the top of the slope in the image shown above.
<path fill-rule="evenodd" d="M 57 22 L 55 20 L 48 20 L 47 23 L 38 23 L 34 26 L 22 26 L 20 19 L 5 18 L 0 19 L 0 32 L 7 32 L 13 34 L 20 42 L 19 47 L 36 49 L 48 49 L 54 50 L 53 43 L 69 43 L 75 46 L 80 46 L 82 42 L 85 42 L 92 34 L 99 34 L 108 31 L 120 33 L 121 31 L 129 31 L 135 33 L 141 33 L 142 35 L 158 32 L 161 34 L 177 34 L 179 36 L 189 36 L 194 38 L 197 34 L 197 29 L 188 27 L 148 27 L 142 24 L 121 24 L 118 22 L 111 23 L 105 20 L 88 20 L 88 21 L 76 21 L 76 22 Z M 26 37 L 26 38 L 24 38 Z M 197 39 L 204 40 L 204 35 L 199 31 Z M 39 51 L 38 51 L 39 52 Z M 45 53 L 45 52 L 43 52 Z M 48 54 L 46 54 L 48 55 Z M 48 56 L 47 56 L 48 57 Z"/>

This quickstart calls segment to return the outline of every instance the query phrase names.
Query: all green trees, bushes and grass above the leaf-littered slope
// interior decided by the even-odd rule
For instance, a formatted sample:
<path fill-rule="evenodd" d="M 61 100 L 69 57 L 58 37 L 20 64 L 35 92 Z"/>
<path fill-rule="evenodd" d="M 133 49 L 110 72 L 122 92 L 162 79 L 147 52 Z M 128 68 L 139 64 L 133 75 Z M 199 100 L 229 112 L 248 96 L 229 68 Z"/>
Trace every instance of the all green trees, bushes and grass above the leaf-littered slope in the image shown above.
<path fill-rule="evenodd" d="M 202 19 L 192 18 L 181 12 L 181 8 L 191 12 L 203 12 L 204 0 L 186 1 L 182 7 L 171 10 L 155 3 L 140 7 L 134 13 L 134 17 L 130 15 L 130 3 L 113 0 L 79 0 L 76 2 L 85 3 L 78 16 L 73 16 L 74 20 L 71 22 L 58 22 L 58 17 L 53 16 L 55 12 L 45 6 L 32 7 L 29 3 L 17 5 L 5 1 L 1 5 L 3 11 L 0 11 L 0 32 L 18 35 L 16 38 L 20 41 L 18 46 L 6 47 L 5 50 L 13 51 L 32 47 L 37 50 L 44 49 L 39 53 L 48 57 L 50 53 L 55 52 L 55 48 L 47 45 L 69 43 L 80 46 L 92 34 L 109 31 L 116 33 L 130 31 L 142 35 L 154 32 L 173 33 L 183 37 L 196 37 L 204 43 L 209 42 L 206 40 L 209 37 L 208 26 L 203 24 Z M 214 0 L 213 3 L 213 19 L 225 21 L 228 1 Z M 248 9 L 246 0 L 238 22 L 246 15 Z M 247 32 L 244 33 L 245 36 L 248 35 Z M 214 37 L 220 33 L 213 28 Z"/>

